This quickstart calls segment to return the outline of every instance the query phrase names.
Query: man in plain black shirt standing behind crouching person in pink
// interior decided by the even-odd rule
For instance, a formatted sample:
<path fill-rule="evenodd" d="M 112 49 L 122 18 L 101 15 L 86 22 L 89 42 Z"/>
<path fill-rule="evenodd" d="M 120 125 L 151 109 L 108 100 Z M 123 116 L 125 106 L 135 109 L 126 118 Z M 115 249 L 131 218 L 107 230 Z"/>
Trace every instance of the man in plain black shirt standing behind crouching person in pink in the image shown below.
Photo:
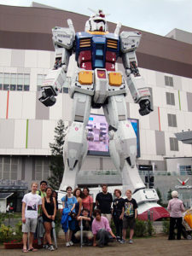
<path fill-rule="evenodd" d="M 108 218 L 109 224 L 111 223 L 111 204 L 113 197 L 108 193 L 108 185 L 102 184 L 102 192 L 96 195 L 96 207 L 102 212 L 102 216 Z"/>

